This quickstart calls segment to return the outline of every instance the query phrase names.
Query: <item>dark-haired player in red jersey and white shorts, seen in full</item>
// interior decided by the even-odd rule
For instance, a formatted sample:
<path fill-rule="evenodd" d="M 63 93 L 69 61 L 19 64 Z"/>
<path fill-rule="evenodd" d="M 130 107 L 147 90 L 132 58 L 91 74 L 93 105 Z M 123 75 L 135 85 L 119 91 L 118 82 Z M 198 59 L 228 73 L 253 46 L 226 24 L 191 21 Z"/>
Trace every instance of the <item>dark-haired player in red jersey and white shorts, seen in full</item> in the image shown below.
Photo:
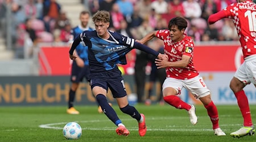
<path fill-rule="evenodd" d="M 192 38 L 184 33 L 187 26 L 187 20 L 177 16 L 169 21 L 168 30 L 152 31 L 137 41 L 144 44 L 154 37 L 164 41 L 164 53 L 168 55 L 168 60 L 155 60 L 158 69 L 166 68 L 167 77 L 162 87 L 164 101 L 175 108 L 187 110 L 191 124 L 195 125 L 198 120 L 195 106 L 177 96 L 185 87 L 204 104 L 212 122 L 214 135 L 225 136 L 218 124 L 218 110 L 210 98 L 210 90 L 193 65 L 195 44 Z"/>

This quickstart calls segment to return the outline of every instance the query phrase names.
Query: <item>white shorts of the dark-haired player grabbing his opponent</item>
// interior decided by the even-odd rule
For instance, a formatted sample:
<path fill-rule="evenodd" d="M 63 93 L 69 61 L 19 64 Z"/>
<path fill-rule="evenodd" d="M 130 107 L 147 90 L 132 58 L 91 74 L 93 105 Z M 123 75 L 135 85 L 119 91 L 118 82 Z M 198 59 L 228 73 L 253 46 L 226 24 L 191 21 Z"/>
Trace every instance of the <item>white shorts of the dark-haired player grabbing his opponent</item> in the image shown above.
<path fill-rule="evenodd" d="M 177 91 L 177 95 L 180 95 L 183 87 L 191 91 L 196 98 L 205 97 L 210 94 L 210 90 L 207 88 L 203 78 L 200 76 L 191 78 L 189 80 L 178 80 L 176 78 L 167 77 L 163 83 L 163 90 L 167 87 L 174 88 Z"/>

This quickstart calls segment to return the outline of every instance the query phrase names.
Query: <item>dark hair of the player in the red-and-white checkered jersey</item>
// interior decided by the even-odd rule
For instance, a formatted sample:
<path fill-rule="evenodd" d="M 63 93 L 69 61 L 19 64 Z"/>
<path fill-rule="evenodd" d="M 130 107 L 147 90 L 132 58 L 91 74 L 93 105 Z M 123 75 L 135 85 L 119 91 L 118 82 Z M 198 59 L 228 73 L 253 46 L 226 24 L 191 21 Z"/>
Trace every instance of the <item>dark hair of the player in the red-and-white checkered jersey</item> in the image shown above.
<path fill-rule="evenodd" d="M 169 24 L 168 24 L 168 28 L 169 30 L 171 30 L 171 27 L 172 26 L 177 26 L 177 28 L 181 31 L 183 28 L 184 30 L 188 27 L 188 22 L 187 20 L 185 20 L 184 18 L 180 17 L 180 16 L 177 16 L 175 18 L 172 18 L 170 21 L 169 21 Z"/>

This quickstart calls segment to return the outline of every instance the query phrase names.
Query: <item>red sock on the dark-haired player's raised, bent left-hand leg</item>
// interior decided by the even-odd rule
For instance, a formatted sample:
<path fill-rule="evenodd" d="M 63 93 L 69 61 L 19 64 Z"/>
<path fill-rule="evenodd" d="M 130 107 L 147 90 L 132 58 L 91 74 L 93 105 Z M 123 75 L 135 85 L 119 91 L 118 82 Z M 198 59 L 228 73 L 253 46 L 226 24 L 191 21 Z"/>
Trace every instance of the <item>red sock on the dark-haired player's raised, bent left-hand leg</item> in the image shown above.
<path fill-rule="evenodd" d="M 178 109 L 185 109 L 190 110 L 191 106 L 187 103 L 183 102 L 179 97 L 176 95 L 168 95 L 166 97 L 163 97 L 164 101 L 166 101 L 169 105 L 174 106 Z"/>

